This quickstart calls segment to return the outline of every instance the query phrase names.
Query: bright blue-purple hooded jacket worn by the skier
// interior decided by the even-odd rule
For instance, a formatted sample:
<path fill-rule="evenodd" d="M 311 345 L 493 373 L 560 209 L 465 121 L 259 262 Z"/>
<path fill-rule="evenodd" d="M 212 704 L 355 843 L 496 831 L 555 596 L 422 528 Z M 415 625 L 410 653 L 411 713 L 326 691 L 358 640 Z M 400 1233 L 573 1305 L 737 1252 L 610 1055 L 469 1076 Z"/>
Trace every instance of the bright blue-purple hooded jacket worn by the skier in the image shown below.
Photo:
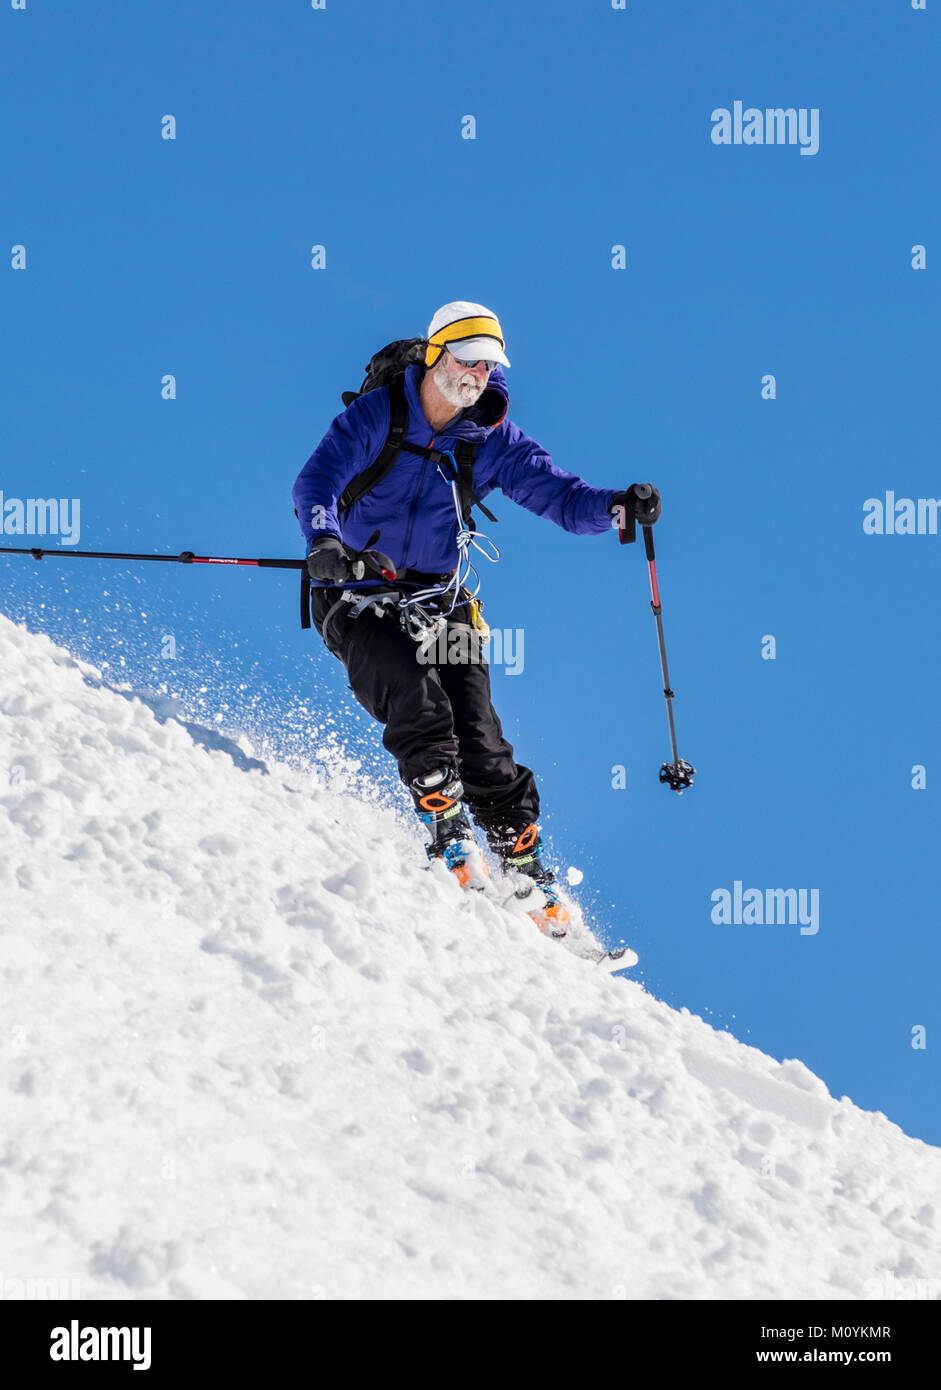
<path fill-rule="evenodd" d="M 424 370 L 420 363 L 406 370 L 406 441 L 448 449 L 456 439 L 474 439 L 474 491 L 481 499 L 500 488 L 513 502 L 566 531 L 600 535 L 610 530 L 614 489 L 592 488 L 574 473 L 557 468 L 535 439 L 506 418 L 510 398 L 500 367 L 491 373 L 480 400 L 459 411 L 441 435 L 432 435 L 421 409 Z M 398 570 L 450 571 L 459 559 L 455 505 L 449 484 L 429 459 L 403 449 L 382 482 L 354 502 L 342 521 L 336 516 L 341 493 L 373 463 L 388 432 L 385 388 L 368 391 L 336 416 L 293 486 L 304 541 L 310 546 L 316 535 L 336 535 L 361 550 L 379 531 L 375 546 Z"/>

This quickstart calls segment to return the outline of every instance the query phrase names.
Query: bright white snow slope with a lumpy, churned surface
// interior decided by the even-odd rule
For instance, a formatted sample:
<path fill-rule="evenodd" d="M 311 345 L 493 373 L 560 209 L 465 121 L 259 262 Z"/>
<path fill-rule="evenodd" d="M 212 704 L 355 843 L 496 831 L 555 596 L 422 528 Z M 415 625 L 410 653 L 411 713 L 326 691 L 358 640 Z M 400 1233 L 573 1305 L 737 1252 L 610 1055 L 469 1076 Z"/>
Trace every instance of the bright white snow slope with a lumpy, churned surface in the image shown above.
<path fill-rule="evenodd" d="M 0 617 L 0 1295 L 937 1297 L 938 1150 L 420 844 Z"/>

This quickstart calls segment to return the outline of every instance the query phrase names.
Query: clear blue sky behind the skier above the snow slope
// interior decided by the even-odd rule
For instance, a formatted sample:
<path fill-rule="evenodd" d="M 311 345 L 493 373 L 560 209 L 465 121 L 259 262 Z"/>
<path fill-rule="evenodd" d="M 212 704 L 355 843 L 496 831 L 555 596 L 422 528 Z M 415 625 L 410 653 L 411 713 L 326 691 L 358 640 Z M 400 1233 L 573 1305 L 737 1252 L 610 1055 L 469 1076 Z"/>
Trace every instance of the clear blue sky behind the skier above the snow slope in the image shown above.
<path fill-rule="evenodd" d="M 525 634 L 495 702 L 557 862 L 653 992 L 931 1143 L 941 537 L 862 518 L 940 491 L 937 46 L 909 0 L 0 10 L 6 498 L 81 498 L 86 548 L 299 553 L 292 482 L 371 350 L 491 306 L 517 424 L 663 492 L 699 769 L 657 783 L 641 548 L 495 495 L 486 614 Z M 816 108 L 819 152 L 714 145 L 735 100 Z M 0 603 L 207 721 L 297 748 L 307 701 L 384 766 L 291 575 L 7 560 Z M 819 933 L 714 924 L 735 880 L 819 890 Z"/>

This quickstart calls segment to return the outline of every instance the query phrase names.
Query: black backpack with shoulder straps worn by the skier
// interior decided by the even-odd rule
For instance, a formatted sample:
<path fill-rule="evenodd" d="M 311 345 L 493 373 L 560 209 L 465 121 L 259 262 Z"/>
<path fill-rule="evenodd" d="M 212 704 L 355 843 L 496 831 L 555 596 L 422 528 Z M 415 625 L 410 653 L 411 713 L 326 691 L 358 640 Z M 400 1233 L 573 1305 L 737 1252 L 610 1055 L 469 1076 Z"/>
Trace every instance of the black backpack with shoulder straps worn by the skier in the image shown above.
<path fill-rule="evenodd" d="M 478 506 L 488 520 L 496 521 L 493 513 L 484 506 L 474 492 L 475 443 L 471 443 L 470 439 L 457 439 L 453 448 L 455 463 L 457 464 L 456 473 L 452 470 L 448 455 L 439 449 L 427 449 L 420 443 L 406 443 L 409 402 L 404 392 L 404 374 L 411 363 L 425 360 L 427 346 L 427 338 L 399 338 L 395 342 L 386 343 L 385 348 L 373 353 L 367 361 L 364 367 L 366 377 L 360 389 L 342 392 L 343 406 L 352 406 L 359 396 L 364 396 L 368 391 L 379 391 L 382 386 L 388 386 L 389 432 L 373 463 L 367 468 L 363 468 L 361 473 L 357 473 L 343 488 L 336 505 L 336 514 L 339 517 L 345 512 L 349 512 L 354 502 L 359 502 L 360 498 L 364 498 L 367 492 L 371 492 L 382 482 L 404 449 L 407 453 L 417 453 L 423 459 L 431 459 L 439 467 L 449 470 L 457 482 L 461 516 L 464 525 L 470 531 L 474 530 L 474 520 L 471 517 L 471 507 L 474 506 Z M 306 570 L 302 570 L 300 575 L 300 626 L 303 628 L 310 627 L 310 577 Z"/>

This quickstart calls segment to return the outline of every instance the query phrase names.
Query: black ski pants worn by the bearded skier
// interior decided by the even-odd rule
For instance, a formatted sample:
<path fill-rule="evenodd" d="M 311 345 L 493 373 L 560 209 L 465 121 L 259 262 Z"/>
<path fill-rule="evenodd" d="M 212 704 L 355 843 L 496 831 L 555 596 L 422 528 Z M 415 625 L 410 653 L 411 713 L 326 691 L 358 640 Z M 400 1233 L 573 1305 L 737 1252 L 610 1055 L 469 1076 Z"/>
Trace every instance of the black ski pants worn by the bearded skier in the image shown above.
<path fill-rule="evenodd" d="M 528 767 L 513 760 L 491 701 L 491 673 L 482 657 L 463 663 L 424 663 L 418 645 L 395 616 L 364 609 L 350 616 L 338 589 L 314 589 L 311 617 L 328 649 L 349 676 L 360 705 L 385 726 L 382 742 L 399 764 L 404 783 L 438 767 L 456 767 L 464 801 L 489 835 L 525 830 L 539 816 L 539 794 Z M 466 609 L 455 619 L 467 620 Z M 466 655 L 473 646 L 460 644 Z"/>

